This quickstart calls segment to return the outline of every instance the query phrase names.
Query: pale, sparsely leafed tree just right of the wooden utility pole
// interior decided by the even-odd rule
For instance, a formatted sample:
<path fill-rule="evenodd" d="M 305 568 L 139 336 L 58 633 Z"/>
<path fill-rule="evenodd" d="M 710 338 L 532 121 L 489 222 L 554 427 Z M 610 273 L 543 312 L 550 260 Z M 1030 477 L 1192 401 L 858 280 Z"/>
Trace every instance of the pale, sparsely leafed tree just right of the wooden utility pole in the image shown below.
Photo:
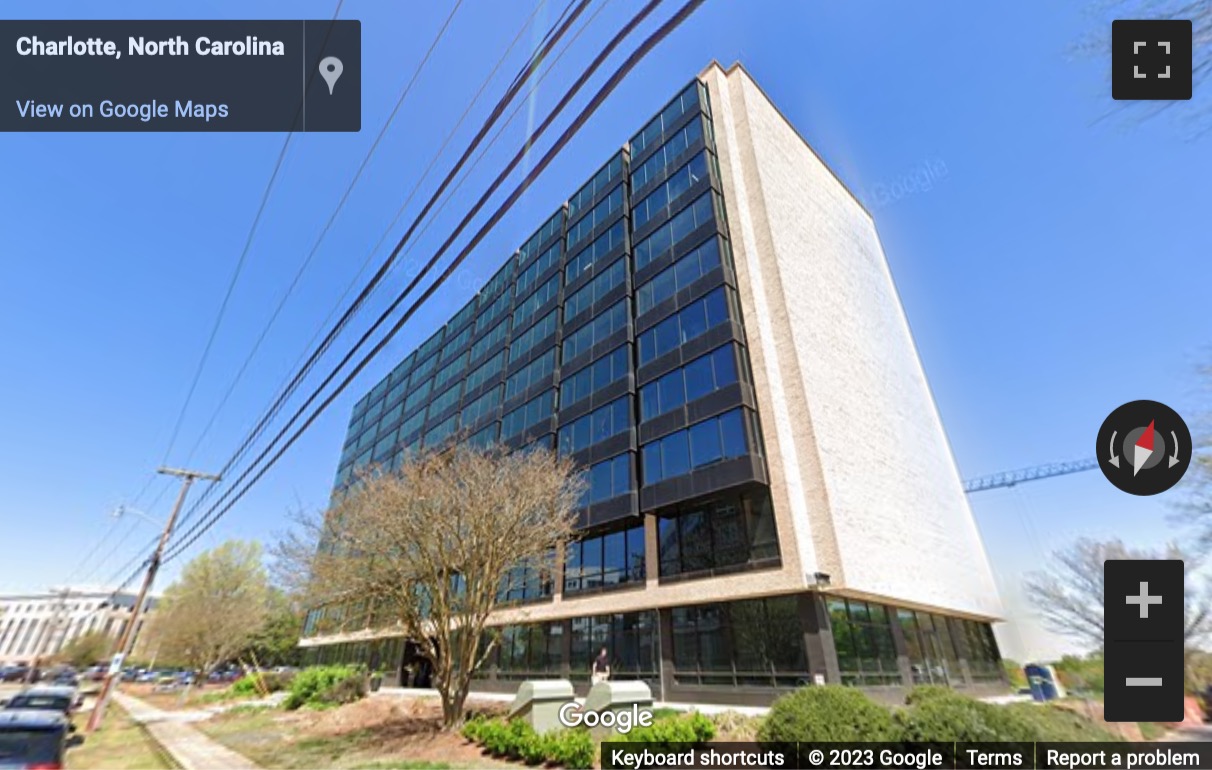
<path fill-rule="evenodd" d="M 268 606 L 261 546 L 228 541 L 195 557 L 168 586 L 149 620 L 147 645 L 205 675 L 248 646 Z"/>

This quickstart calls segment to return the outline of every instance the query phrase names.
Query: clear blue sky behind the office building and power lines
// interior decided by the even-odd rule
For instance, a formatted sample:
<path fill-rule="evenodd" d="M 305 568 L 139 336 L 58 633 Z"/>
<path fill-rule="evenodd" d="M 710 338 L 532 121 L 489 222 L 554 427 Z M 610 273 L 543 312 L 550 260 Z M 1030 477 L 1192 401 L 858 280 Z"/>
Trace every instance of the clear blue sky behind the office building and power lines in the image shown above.
<path fill-rule="evenodd" d="M 417 241 L 417 255 L 431 253 L 470 193 L 482 189 L 485 171 L 514 152 L 527 118 L 545 114 L 573 65 L 588 62 L 639 6 L 606 6 Z M 328 18 L 335 2 L 299 0 L 288 11 L 273 2 L 5 7 L 29 18 L 172 11 Z M 0 138 L 0 593 L 45 588 L 73 571 L 76 582 L 114 576 L 155 531 L 137 518 L 112 531 L 108 512 L 126 502 L 166 515 L 167 481 L 138 497 L 164 460 L 222 466 L 533 4 L 464 2 L 248 373 L 190 454 L 450 7 L 344 4 L 341 16 L 362 22 L 364 130 L 292 141 L 167 457 L 282 135 Z M 538 18 L 556 12 L 553 4 Z M 358 395 L 713 58 L 742 61 L 873 210 L 962 475 L 1088 456 L 1098 424 L 1124 401 L 1151 398 L 1191 417 L 1206 405 L 1197 366 L 1212 359 L 1212 139 L 1189 138 L 1182 105 L 1144 122 L 1099 120 L 1113 104 L 1109 61 L 1074 56 L 1071 46 L 1105 22 L 1081 4 L 709 0 L 614 93 L 459 280 L 435 295 L 200 546 L 271 537 L 292 508 L 324 504 Z M 541 33 L 524 36 L 490 93 L 499 93 L 521 49 Z M 478 104 L 452 147 L 462 147 L 487 109 Z M 450 162 L 444 158 L 439 169 Z M 903 182 L 924 176 L 928 186 Z M 395 227 L 390 243 L 402 229 Z M 390 293 L 405 283 L 402 272 L 394 274 Z M 370 318 L 364 314 L 360 327 Z M 1134 498 L 1091 472 L 983 492 L 972 507 L 1019 615 L 1021 575 L 1074 537 L 1119 536 L 1137 546 L 1182 540 L 1167 520 L 1179 492 Z M 84 561 L 98 542 L 97 557 Z M 1004 634 L 1010 651 L 1059 649 L 1033 623 L 1018 626 Z"/>

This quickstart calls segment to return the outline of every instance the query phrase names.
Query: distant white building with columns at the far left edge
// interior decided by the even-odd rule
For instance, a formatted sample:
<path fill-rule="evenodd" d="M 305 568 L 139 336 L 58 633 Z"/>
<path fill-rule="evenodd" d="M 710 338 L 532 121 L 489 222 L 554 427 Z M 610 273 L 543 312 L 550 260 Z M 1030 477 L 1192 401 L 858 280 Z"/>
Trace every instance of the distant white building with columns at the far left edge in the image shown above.
<path fill-rule="evenodd" d="M 137 598 L 133 592 L 114 593 L 96 586 L 0 595 L 0 663 L 51 657 L 73 639 L 95 631 L 116 641 L 126 631 Z M 155 603 L 154 597 L 149 598 L 148 609 Z M 136 633 L 142 627 L 143 621 Z"/>

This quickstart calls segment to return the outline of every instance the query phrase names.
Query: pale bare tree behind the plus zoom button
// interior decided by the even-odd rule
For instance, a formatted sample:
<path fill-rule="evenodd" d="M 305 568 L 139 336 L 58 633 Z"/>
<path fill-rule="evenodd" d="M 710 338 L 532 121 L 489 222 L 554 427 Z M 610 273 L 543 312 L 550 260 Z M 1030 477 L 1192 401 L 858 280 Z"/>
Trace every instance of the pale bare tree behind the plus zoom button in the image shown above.
<path fill-rule="evenodd" d="M 1127 548 L 1119 540 L 1079 540 L 1053 554 L 1054 564 L 1027 577 L 1025 591 L 1044 623 L 1052 631 L 1088 644 L 1103 645 L 1103 561 L 1108 559 L 1183 559 L 1187 574 L 1184 639 L 1187 646 L 1212 632 L 1212 604 L 1206 587 L 1194 577 L 1200 560 L 1170 544 L 1165 552 Z"/>

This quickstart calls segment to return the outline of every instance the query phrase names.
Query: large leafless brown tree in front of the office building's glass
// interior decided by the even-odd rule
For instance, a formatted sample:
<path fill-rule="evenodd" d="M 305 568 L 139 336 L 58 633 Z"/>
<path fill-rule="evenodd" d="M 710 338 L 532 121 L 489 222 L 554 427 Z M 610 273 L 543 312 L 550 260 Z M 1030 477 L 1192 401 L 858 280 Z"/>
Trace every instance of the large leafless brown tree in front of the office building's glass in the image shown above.
<path fill-rule="evenodd" d="M 275 549 L 278 577 L 325 608 L 321 632 L 398 624 L 433 666 L 442 721 L 456 728 L 498 640 L 490 615 L 521 583 L 556 574 L 583 486 L 568 458 L 543 449 L 411 455 L 301 517 Z"/>

